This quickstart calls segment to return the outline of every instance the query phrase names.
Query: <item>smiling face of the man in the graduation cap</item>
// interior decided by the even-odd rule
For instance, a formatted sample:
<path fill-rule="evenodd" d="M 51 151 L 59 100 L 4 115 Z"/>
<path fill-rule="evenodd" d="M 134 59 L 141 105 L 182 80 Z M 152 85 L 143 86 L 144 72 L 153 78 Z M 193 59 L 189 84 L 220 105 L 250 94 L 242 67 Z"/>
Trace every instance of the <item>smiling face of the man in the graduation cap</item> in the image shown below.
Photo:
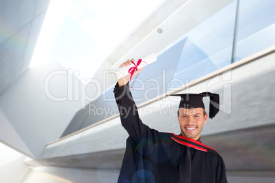
<path fill-rule="evenodd" d="M 187 138 L 198 140 L 202 126 L 207 121 L 207 114 L 203 115 L 202 108 L 195 109 L 179 109 L 179 126 L 181 128 L 181 135 Z"/>

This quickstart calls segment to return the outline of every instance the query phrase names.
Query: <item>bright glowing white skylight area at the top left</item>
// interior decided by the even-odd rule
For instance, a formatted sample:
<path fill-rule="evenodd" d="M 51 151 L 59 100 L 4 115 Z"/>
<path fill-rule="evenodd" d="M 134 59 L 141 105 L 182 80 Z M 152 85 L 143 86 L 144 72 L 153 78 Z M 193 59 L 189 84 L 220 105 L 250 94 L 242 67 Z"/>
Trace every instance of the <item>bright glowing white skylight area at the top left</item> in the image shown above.
<path fill-rule="evenodd" d="M 60 62 L 89 79 L 163 0 L 51 1 L 31 66 Z"/>

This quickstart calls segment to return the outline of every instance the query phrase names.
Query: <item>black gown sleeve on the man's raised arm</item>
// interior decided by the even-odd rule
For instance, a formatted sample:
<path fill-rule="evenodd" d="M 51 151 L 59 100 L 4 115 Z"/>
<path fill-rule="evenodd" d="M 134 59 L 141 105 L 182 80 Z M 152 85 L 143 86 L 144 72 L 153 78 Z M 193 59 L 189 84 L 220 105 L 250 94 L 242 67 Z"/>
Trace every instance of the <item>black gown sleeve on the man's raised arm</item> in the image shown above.
<path fill-rule="evenodd" d="M 118 87 L 118 83 L 116 83 L 114 95 L 120 113 L 121 124 L 127 130 L 129 137 L 135 143 L 142 141 L 142 139 L 154 139 L 158 131 L 142 123 L 132 94 L 129 91 L 129 83 L 122 87 Z"/>

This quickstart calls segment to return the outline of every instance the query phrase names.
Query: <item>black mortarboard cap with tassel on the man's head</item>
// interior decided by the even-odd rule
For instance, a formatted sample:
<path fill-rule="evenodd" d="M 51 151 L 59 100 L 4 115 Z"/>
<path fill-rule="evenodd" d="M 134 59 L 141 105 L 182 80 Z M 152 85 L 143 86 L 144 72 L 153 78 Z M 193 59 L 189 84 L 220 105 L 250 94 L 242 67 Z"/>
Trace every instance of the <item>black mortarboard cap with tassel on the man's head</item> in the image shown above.
<path fill-rule="evenodd" d="M 210 97 L 209 118 L 215 117 L 220 110 L 220 98 L 218 94 L 212 94 L 210 92 L 202 92 L 200 94 L 174 94 L 169 96 L 180 96 L 181 102 L 179 108 L 194 109 L 201 107 L 205 109 L 202 98 L 205 96 Z"/>

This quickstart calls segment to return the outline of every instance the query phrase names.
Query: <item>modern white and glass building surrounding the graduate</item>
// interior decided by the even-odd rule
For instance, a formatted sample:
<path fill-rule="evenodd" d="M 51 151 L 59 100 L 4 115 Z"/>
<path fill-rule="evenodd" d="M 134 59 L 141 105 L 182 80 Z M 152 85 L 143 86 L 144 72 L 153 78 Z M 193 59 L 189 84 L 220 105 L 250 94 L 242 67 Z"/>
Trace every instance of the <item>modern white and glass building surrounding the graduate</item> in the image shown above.
<path fill-rule="evenodd" d="M 114 33 L 118 2 L 89 2 L 57 9 L 40 53 L 53 2 L 0 1 L 0 182 L 116 182 L 127 132 L 109 70 L 151 52 L 157 61 L 131 81 L 142 121 L 179 133 L 179 99 L 166 95 L 218 93 L 202 142 L 224 158 L 228 182 L 275 181 L 275 1 L 155 1 L 125 37 Z M 29 67 L 34 59 L 46 63 Z"/>

